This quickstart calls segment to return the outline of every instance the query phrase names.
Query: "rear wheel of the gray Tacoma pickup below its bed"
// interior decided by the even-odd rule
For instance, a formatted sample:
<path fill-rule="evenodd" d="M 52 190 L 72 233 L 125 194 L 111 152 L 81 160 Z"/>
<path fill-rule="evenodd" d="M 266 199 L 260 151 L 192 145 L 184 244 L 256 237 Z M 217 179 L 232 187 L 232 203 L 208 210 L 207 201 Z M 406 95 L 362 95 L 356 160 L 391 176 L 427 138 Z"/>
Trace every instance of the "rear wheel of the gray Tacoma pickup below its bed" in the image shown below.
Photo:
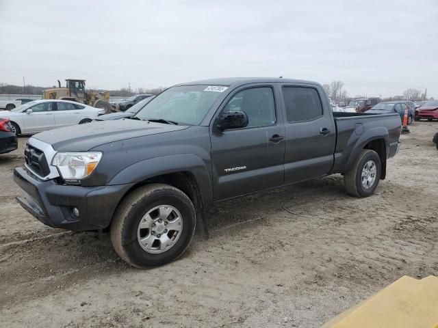
<path fill-rule="evenodd" d="M 374 150 L 364 149 L 344 176 L 346 191 L 352 196 L 368 197 L 376 190 L 380 178 L 381 159 Z"/>

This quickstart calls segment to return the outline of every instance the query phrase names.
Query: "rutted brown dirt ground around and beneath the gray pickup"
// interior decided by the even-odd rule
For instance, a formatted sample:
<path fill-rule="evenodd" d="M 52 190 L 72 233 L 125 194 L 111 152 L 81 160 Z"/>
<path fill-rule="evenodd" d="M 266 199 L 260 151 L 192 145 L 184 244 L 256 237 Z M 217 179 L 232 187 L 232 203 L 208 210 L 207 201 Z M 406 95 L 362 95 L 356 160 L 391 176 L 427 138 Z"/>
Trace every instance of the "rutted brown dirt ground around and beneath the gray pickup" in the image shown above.
<path fill-rule="evenodd" d="M 223 202 L 176 262 L 129 267 L 107 234 L 48 228 L 0 155 L 1 327 L 319 327 L 402 275 L 438 275 L 437 122 L 415 122 L 365 199 L 342 176 Z"/>

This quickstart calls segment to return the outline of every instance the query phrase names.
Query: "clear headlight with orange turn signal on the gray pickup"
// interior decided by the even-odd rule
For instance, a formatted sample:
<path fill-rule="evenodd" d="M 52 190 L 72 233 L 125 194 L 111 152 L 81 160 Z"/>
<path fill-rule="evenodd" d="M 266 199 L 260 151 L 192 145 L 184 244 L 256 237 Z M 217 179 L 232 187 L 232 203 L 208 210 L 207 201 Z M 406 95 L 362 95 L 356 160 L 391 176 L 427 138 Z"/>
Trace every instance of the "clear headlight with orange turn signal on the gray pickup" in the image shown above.
<path fill-rule="evenodd" d="M 101 158 L 101 152 L 57 152 L 52 165 L 57 167 L 66 182 L 77 182 L 89 176 Z"/>

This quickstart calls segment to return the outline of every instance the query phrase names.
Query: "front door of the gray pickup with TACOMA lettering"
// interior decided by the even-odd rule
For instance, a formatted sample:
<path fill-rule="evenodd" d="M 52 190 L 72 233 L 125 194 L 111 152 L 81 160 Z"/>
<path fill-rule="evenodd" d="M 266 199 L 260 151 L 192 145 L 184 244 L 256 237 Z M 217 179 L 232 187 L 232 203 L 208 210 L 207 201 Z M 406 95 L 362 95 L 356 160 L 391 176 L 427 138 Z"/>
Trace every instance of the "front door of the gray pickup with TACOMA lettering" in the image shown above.
<path fill-rule="evenodd" d="M 285 127 L 272 85 L 236 90 L 220 111 L 248 115 L 246 128 L 211 133 L 214 200 L 223 200 L 283 184 Z"/>

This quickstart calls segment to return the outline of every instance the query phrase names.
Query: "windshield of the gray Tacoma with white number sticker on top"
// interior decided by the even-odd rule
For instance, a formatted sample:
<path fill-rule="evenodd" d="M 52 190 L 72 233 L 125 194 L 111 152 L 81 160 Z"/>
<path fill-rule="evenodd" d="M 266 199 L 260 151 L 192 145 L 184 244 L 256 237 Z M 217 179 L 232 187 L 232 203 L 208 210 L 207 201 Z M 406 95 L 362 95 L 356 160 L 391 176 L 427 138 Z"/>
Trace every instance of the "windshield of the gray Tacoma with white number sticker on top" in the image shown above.
<path fill-rule="evenodd" d="M 201 123 L 211 105 L 227 90 L 224 86 L 181 85 L 162 92 L 143 109 L 136 118 L 140 120 L 162 119 L 183 125 Z"/>

